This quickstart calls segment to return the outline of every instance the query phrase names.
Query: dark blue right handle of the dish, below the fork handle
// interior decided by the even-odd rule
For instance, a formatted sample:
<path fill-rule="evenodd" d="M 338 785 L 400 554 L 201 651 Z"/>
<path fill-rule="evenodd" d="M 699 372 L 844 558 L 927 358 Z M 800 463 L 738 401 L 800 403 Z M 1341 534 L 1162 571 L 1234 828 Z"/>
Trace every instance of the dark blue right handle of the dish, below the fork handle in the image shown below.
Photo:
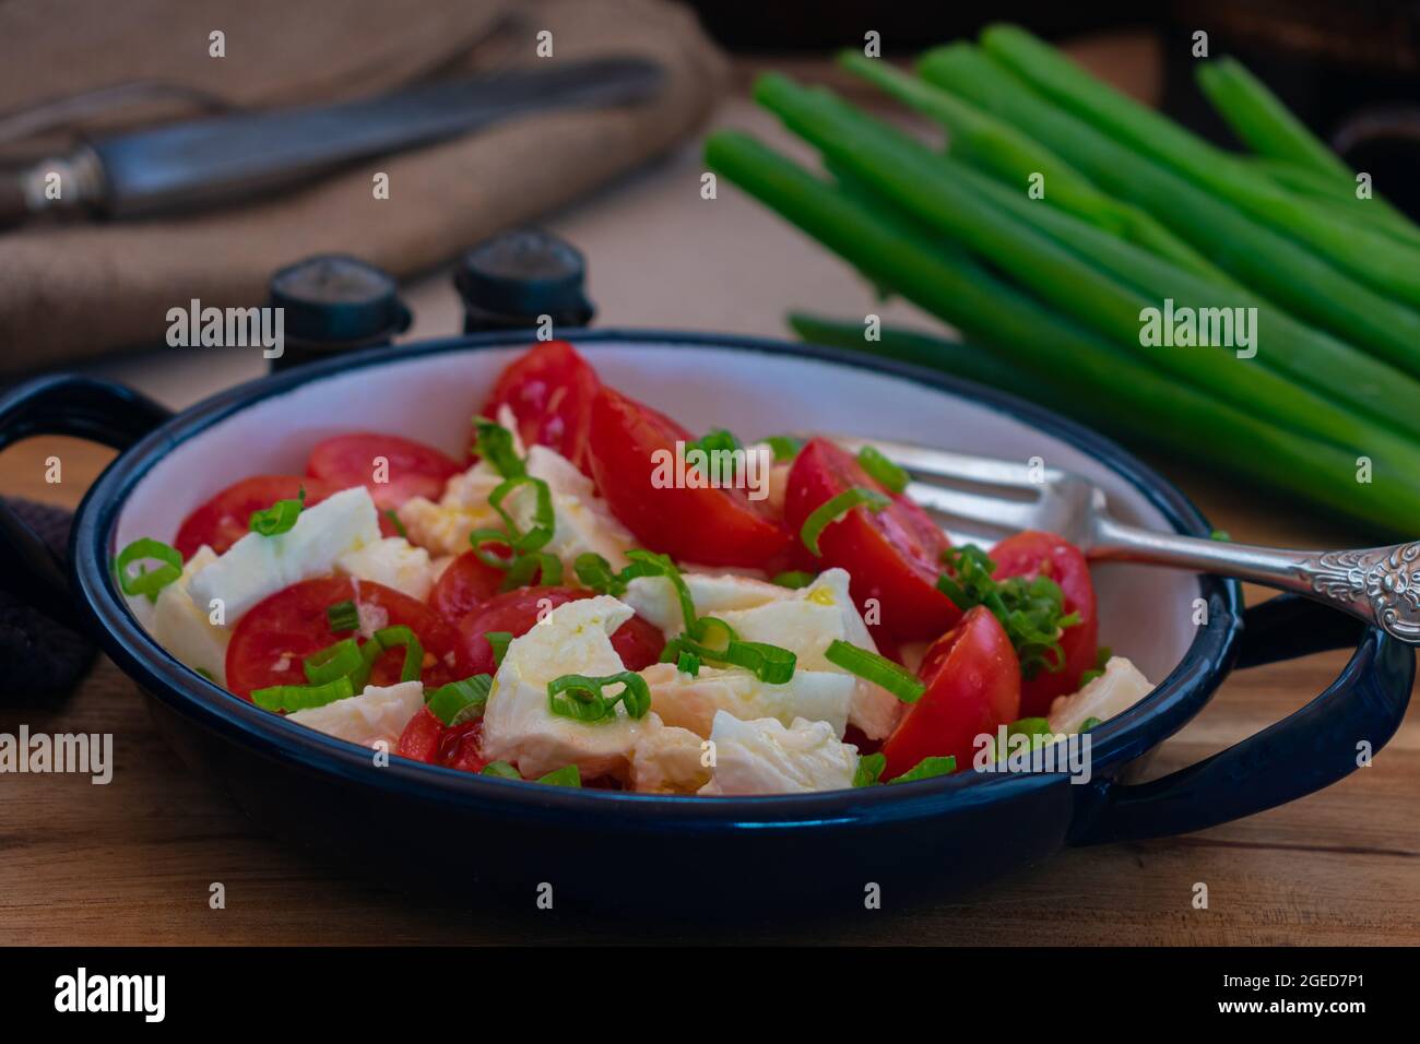
<path fill-rule="evenodd" d="M 1359 636 L 1358 636 L 1358 632 Z M 1355 645 L 1325 692 L 1277 724 L 1197 764 L 1140 784 L 1108 781 L 1069 844 L 1189 834 L 1274 808 L 1349 776 L 1394 736 L 1410 702 L 1414 649 L 1298 595 L 1244 615 L 1238 668 Z"/>

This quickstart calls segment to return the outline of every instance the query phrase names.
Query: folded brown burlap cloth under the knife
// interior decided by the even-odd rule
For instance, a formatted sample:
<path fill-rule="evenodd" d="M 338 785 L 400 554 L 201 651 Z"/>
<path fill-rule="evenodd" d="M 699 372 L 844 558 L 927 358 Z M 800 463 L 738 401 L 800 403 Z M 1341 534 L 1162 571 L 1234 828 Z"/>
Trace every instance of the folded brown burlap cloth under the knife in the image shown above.
<path fill-rule="evenodd" d="M 226 33 L 226 57 L 207 37 Z M 248 305 L 270 273 L 341 251 L 396 276 L 437 266 L 667 149 L 710 112 L 724 62 L 684 9 L 660 0 L 4 0 L 0 108 L 160 80 L 243 108 L 369 95 L 417 80 L 545 61 L 638 54 L 666 87 L 640 107 L 550 112 L 385 156 L 310 187 L 180 219 L 27 226 L 0 234 L 0 371 L 55 366 L 160 344 L 190 298 Z M 193 116 L 172 102 L 115 124 Z M 99 122 L 77 131 L 92 132 Z M 47 155 L 45 141 L 0 161 Z M 375 199 L 375 172 L 389 199 Z"/>

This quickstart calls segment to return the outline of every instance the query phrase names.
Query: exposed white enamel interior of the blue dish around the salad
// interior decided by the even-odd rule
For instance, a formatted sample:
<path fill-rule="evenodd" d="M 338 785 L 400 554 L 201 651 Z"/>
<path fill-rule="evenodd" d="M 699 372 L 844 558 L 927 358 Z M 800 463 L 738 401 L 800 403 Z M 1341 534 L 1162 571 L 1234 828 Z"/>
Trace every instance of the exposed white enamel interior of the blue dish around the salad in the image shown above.
<path fill-rule="evenodd" d="M 462 455 L 469 418 L 498 371 L 521 351 L 412 357 L 263 399 L 159 460 L 124 506 L 116 545 L 138 537 L 170 541 L 182 518 L 222 487 L 248 474 L 300 473 L 311 446 L 339 432 L 393 432 Z M 755 437 L 825 430 L 1014 460 L 1039 456 L 1098 482 L 1122 521 L 1167 527 L 1133 486 L 1071 445 L 988 406 L 897 376 L 714 347 L 599 342 L 582 351 L 606 384 L 693 432 L 720 426 Z M 1112 564 L 1096 567 L 1095 582 L 1100 641 L 1162 682 L 1194 638 L 1197 578 Z"/>

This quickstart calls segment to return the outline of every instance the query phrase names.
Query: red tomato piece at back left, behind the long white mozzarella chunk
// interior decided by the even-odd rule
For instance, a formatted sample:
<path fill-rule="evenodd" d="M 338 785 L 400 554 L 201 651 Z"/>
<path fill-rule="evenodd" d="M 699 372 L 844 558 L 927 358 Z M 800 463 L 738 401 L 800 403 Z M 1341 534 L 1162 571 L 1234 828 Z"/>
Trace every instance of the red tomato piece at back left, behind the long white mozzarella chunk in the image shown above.
<path fill-rule="evenodd" d="M 325 439 L 315 445 L 305 462 L 307 474 L 325 479 L 335 489 L 364 486 L 381 511 L 399 507 L 412 497 L 439 500 L 444 483 L 462 470 L 459 463 L 433 446 L 378 432 Z M 376 482 L 378 477 L 388 482 Z"/>

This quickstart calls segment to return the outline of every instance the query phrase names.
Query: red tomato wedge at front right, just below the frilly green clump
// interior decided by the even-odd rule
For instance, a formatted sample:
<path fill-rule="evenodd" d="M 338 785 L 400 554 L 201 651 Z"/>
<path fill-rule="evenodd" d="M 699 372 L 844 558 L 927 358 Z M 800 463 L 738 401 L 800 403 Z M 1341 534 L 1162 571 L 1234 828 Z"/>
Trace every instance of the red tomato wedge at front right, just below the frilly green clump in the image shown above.
<path fill-rule="evenodd" d="M 1021 716 L 1021 662 L 1005 629 L 984 605 L 927 649 L 917 672 L 927 685 L 907 706 L 882 753 L 883 778 L 902 776 L 924 757 L 957 758 L 957 771 L 976 754 L 976 739 Z"/>

